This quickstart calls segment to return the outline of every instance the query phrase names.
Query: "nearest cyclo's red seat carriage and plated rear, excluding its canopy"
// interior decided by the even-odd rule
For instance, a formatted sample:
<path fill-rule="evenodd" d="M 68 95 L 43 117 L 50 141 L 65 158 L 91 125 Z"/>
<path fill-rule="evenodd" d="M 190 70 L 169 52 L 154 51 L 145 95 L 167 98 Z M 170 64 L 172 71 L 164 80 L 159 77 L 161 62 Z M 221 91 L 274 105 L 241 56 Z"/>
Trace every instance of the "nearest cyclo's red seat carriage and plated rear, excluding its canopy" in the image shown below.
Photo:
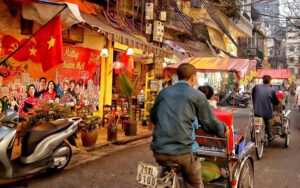
<path fill-rule="evenodd" d="M 251 151 L 254 143 L 247 142 L 245 134 L 233 131 L 232 112 L 214 110 L 214 114 L 227 125 L 226 138 L 217 138 L 197 131 L 196 140 L 200 149 L 202 178 L 205 187 L 253 187 L 254 163 Z M 178 176 L 180 167 L 175 163 L 164 163 L 160 166 L 139 163 L 137 181 L 146 187 L 181 187 Z"/>

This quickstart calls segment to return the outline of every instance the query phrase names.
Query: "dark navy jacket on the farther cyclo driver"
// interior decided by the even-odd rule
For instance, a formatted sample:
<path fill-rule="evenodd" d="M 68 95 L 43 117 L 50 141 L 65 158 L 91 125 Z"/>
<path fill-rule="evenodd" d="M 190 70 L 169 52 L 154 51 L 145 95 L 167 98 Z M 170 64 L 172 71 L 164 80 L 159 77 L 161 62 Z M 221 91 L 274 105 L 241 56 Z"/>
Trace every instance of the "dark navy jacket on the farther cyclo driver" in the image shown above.
<path fill-rule="evenodd" d="M 267 84 L 257 85 L 252 90 L 254 115 L 272 118 L 273 105 L 278 105 L 279 100 L 275 91 Z"/>

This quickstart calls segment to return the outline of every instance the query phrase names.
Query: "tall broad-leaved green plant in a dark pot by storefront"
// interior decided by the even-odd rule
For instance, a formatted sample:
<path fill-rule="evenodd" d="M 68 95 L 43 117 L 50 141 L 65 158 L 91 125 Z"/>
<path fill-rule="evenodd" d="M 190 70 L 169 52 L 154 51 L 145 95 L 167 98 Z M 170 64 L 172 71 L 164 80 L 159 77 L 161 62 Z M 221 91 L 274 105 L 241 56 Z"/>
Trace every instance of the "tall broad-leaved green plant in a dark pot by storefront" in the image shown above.
<path fill-rule="evenodd" d="M 120 74 L 119 83 L 120 90 L 123 96 L 128 99 L 128 113 L 129 118 L 124 125 L 124 132 L 126 136 L 135 136 L 137 133 L 137 121 L 134 119 L 133 109 L 132 109 L 132 97 L 137 88 L 139 76 L 135 79 L 134 83 L 124 74 Z"/>

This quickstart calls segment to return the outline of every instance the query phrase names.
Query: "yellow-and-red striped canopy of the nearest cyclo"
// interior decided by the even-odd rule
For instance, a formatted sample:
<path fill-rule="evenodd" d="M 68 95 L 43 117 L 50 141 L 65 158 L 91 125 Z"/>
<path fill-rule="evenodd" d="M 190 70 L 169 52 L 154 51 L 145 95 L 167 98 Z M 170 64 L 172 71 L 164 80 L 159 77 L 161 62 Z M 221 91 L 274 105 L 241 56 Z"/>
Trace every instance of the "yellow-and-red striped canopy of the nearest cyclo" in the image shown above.
<path fill-rule="evenodd" d="M 204 57 L 187 58 L 180 63 L 166 67 L 167 70 L 177 70 L 180 64 L 190 63 L 194 65 L 198 72 L 236 72 L 238 79 L 243 79 L 252 68 L 253 61 L 249 59 Z"/>

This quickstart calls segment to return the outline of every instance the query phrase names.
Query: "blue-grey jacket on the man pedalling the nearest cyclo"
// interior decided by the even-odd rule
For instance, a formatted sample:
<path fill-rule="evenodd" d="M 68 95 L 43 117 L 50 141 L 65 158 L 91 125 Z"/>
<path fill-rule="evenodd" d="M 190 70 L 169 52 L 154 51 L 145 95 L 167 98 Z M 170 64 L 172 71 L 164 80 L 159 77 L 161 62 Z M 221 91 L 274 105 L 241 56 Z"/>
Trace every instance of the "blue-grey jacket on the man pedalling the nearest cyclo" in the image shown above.
<path fill-rule="evenodd" d="M 151 149 L 159 154 L 188 154 L 199 148 L 197 121 L 208 132 L 224 137 L 226 127 L 212 113 L 205 95 L 180 81 L 163 89 L 151 111 L 155 125 Z"/>

